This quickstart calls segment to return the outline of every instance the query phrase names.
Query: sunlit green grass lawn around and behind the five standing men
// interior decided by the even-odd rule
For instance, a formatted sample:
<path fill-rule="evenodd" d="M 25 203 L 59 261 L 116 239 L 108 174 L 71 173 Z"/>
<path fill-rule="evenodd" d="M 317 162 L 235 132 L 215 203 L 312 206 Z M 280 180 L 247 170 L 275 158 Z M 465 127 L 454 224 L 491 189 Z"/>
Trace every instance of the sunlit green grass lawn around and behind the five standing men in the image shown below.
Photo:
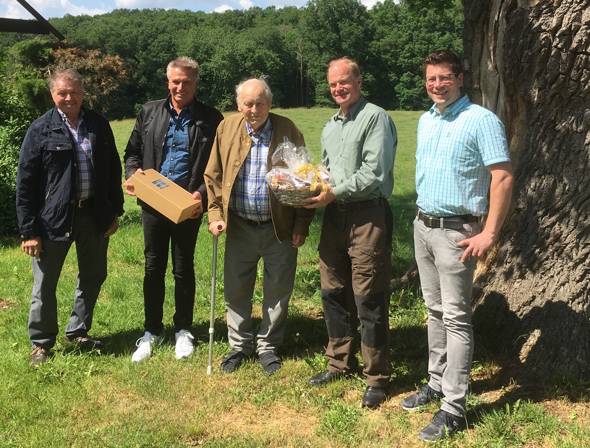
<path fill-rule="evenodd" d="M 300 127 L 319 162 L 323 123 L 332 109 L 275 110 Z M 395 233 L 394 277 L 412 265 L 414 151 L 419 112 L 391 112 L 398 129 L 395 188 L 391 198 Z M 113 122 L 123 153 L 133 120 Z M 392 291 L 389 400 L 378 410 L 359 407 L 365 388 L 353 377 L 321 387 L 307 379 L 325 366 L 327 343 L 317 266 L 321 211 L 300 248 L 291 300 L 283 368 L 265 377 L 257 360 L 223 375 L 227 342 L 223 301 L 224 237 L 219 239 L 214 372 L 206 375 L 212 238 L 202 226 L 195 251 L 195 354 L 176 361 L 173 345 L 172 276 L 166 279 L 165 342 L 146 364 L 131 363 L 143 334 L 143 234 L 139 208 L 126 197 L 126 214 L 109 247 L 109 277 L 103 285 L 91 334 L 106 343 L 81 352 L 58 336 L 54 356 L 38 371 L 28 363 L 27 319 L 32 287 L 30 259 L 18 241 L 0 247 L 0 447 L 420 447 L 417 433 L 435 404 L 414 413 L 399 400 L 427 379 L 425 307 L 418 291 Z M 70 251 L 58 285 L 58 320 L 63 332 L 76 287 L 76 255 Z M 258 275 L 261 279 L 261 272 Z M 262 290 L 254 293 L 260 323 Z M 501 363 L 476 352 L 467 431 L 439 446 L 590 446 L 588 385 L 558 378 L 535 395 L 503 375 Z"/>

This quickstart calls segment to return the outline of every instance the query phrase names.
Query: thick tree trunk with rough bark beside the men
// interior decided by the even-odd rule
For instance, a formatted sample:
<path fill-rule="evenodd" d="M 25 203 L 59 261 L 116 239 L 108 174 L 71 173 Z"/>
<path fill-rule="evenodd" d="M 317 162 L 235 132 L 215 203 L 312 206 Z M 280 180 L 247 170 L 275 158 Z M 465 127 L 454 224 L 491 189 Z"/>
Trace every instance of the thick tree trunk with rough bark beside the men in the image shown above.
<path fill-rule="evenodd" d="M 476 272 L 476 341 L 521 377 L 590 377 L 590 0 L 464 4 L 466 91 L 506 126 L 515 174 Z"/>

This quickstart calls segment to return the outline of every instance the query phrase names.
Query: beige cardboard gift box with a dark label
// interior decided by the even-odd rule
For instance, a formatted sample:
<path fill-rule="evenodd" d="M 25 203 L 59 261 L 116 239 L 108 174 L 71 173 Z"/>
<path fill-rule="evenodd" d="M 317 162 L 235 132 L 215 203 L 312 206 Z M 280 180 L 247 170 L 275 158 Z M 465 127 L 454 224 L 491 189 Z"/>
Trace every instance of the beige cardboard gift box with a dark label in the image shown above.
<path fill-rule="evenodd" d="M 191 217 L 201 204 L 201 201 L 194 200 L 192 194 L 184 188 L 153 169 L 132 175 L 130 181 L 140 200 L 176 224 Z"/>

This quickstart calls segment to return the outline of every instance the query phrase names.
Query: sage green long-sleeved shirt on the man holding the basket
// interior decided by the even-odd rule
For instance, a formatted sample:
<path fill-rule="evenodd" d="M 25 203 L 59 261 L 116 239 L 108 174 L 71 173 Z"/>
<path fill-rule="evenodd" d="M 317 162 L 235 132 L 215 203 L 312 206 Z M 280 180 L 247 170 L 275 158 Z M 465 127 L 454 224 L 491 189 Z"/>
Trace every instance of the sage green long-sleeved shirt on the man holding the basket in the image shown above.
<path fill-rule="evenodd" d="M 389 198 L 394 189 L 398 135 L 394 121 L 363 97 L 345 116 L 340 111 L 322 131 L 322 163 L 335 182 L 338 201 Z"/>

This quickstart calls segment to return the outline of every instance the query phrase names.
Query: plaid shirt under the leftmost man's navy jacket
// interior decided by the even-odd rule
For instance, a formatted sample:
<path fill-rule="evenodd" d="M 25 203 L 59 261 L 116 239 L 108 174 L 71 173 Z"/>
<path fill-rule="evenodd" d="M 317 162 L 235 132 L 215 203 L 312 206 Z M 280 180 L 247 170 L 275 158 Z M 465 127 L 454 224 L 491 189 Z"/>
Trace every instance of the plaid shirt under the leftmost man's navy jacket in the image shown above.
<path fill-rule="evenodd" d="M 71 125 L 61 110 L 58 109 L 58 111 L 65 125 L 70 129 L 74 142 L 76 142 L 76 167 L 78 169 L 76 199 L 88 199 L 94 196 L 94 179 L 92 176 L 92 148 L 90 147 L 90 136 L 86 129 L 86 123 L 84 123 L 84 111 L 81 111 L 80 119 L 78 120 L 78 129 Z"/>

